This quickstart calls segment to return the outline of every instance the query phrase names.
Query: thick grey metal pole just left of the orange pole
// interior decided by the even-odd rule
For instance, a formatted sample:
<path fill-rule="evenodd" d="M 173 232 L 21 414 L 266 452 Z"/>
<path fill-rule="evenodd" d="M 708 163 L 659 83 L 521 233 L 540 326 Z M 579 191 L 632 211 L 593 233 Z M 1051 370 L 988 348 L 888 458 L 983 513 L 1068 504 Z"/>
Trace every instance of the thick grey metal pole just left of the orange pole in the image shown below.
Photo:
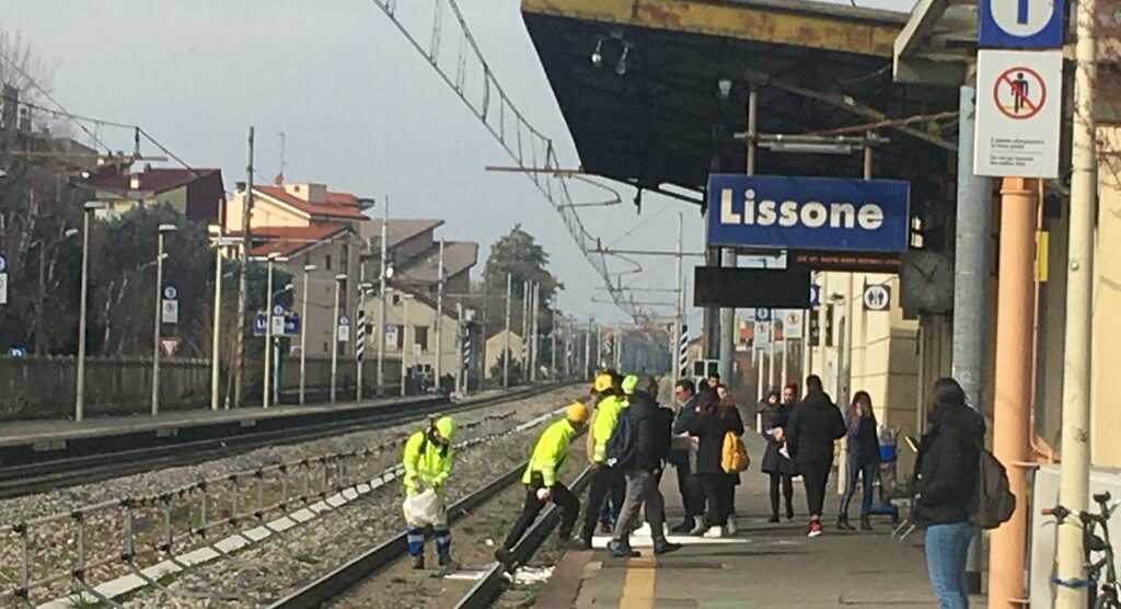
<path fill-rule="evenodd" d="M 957 102 L 957 212 L 954 253 L 954 323 L 952 375 L 965 390 L 967 404 L 984 410 L 985 367 L 989 361 L 990 265 L 992 207 L 989 178 L 973 174 L 975 91 L 963 86 Z M 926 388 L 923 387 L 923 390 Z M 965 570 L 969 591 L 981 592 L 980 536 L 970 544 Z"/>

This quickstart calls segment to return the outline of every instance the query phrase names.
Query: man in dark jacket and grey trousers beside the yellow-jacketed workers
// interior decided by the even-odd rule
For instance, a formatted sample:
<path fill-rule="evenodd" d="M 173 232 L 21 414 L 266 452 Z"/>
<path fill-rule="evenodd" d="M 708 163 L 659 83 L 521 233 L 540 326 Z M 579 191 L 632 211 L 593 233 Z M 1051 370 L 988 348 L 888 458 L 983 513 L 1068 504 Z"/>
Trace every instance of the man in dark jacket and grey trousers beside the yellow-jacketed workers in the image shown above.
<path fill-rule="evenodd" d="M 643 504 L 646 522 L 649 523 L 650 535 L 654 537 L 654 553 L 665 554 L 679 547 L 666 541 L 663 528 L 666 501 L 658 489 L 666 458 L 669 456 L 674 415 L 669 409 L 658 406 L 656 380 L 650 377 L 636 380 L 634 391 L 630 395 L 630 406 L 621 415 L 628 417 L 636 434 L 636 450 L 629 462 L 614 465 L 622 468 L 627 478 L 627 496 L 619 511 L 619 519 L 615 520 L 611 544 L 608 546 L 614 557 L 638 555 L 631 550 L 630 532 L 638 520 L 639 509 Z M 630 382 L 623 382 L 624 387 L 628 385 Z"/>

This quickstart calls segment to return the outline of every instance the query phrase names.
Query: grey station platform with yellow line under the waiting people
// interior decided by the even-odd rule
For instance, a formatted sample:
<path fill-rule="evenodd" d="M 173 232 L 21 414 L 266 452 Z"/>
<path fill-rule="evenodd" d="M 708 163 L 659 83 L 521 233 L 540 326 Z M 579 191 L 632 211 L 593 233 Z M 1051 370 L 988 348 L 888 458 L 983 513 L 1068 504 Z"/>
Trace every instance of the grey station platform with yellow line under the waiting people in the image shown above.
<path fill-rule="evenodd" d="M 751 442 L 754 446 L 761 440 Z M 752 451 L 757 452 L 757 451 Z M 654 557 L 649 537 L 636 537 L 642 556 L 610 557 L 596 539 L 592 552 L 568 552 L 538 594 L 535 607 L 599 609 L 621 607 L 732 609 L 757 607 L 935 607 L 926 576 L 921 533 L 906 541 L 891 537 L 890 519 L 873 520 L 872 533 L 841 533 L 835 483 L 826 505 L 826 530 L 810 539 L 806 533 L 805 495 L 796 482 L 794 520 L 768 524 L 767 478 L 759 473 L 759 455 L 738 487 L 740 532 L 735 537 L 703 539 L 676 535 L 684 544 L 673 554 Z M 669 523 L 682 520 L 677 480 L 663 480 Z M 855 514 L 855 511 L 854 511 Z M 975 602 L 984 607 L 983 600 Z"/>

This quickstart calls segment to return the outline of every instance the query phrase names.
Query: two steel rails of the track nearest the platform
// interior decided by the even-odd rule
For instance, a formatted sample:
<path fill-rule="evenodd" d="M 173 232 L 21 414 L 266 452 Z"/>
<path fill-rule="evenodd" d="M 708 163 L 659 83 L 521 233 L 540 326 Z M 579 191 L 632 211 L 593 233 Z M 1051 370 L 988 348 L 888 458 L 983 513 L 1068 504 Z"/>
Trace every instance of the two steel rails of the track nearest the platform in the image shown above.
<path fill-rule="evenodd" d="M 452 524 L 463 519 L 479 509 L 499 493 L 519 483 L 525 464 L 518 465 L 494 478 L 479 490 L 464 497 L 448 507 L 448 519 Z M 571 485 L 573 492 L 580 495 L 591 480 L 590 471 L 585 469 Z M 532 527 L 513 547 L 511 554 L 517 564 L 524 564 L 545 542 L 559 519 L 559 510 L 550 505 L 537 519 Z M 339 569 L 327 573 L 311 584 L 293 592 L 288 597 L 272 603 L 269 609 L 319 609 L 333 607 L 369 580 L 382 574 L 390 566 L 407 556 L 405 534 L 383 542 L 372 550 L 352 559 Z M 494 562 L 489 564 L 478 581 L 457 600 L 454 607 L 481 609 L 489 607 L 506 587 L 506 566 Z"/>

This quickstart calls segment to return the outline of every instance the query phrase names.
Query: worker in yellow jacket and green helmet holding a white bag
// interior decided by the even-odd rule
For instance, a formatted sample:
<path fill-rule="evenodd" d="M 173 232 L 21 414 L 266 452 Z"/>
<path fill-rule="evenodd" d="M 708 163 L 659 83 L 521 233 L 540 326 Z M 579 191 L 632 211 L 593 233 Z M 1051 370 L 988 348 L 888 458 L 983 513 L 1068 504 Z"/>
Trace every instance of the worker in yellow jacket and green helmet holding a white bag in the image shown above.
<path fill-rule="evenodd" d="M 453 569 L 452 532 L 447 528 L 447 502 L 444 485 L 452 473 L 452 437 L 455 422 L 443 416 L 430 426 L 409 436 L 405 443 L 405 523 L 413 568 L 424 569 L 425 527 L 436 537 L 439 566 Z"/>

